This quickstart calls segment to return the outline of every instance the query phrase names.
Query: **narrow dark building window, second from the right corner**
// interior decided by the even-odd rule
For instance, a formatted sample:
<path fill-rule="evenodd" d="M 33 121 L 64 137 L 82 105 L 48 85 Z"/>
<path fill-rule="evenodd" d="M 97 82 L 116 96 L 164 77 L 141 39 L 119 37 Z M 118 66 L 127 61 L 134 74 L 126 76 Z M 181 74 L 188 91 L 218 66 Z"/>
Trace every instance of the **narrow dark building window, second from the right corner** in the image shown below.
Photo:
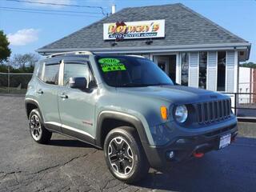
<path fill-rule="evenodd" d="M 207 52 L 199 52 L 199 88 L 206 89 Z"/>

